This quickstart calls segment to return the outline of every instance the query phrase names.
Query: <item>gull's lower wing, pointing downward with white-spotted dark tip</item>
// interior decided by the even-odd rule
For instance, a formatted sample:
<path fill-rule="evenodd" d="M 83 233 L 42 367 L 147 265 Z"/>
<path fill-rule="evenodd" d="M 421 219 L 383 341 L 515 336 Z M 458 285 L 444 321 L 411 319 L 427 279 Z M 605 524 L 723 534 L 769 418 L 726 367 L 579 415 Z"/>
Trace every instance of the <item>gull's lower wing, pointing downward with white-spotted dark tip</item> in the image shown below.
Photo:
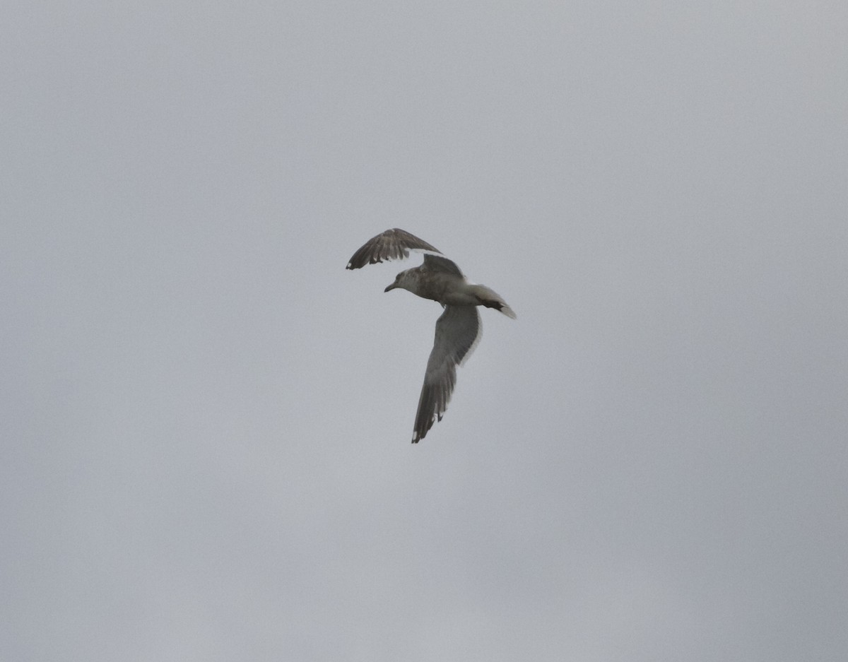
<path fill-rule="evenodd" d="M 454 392 L 456 366 L 471 356 L 482 336 L 483 325 L 477 306 L 445 307 L 436 322 L 436 339 L 427 360 L 421 398 L 418 398 L 412 443 L 420 442 L 432 424 L 437 419 L 442 420 L 450 395 Z"/>

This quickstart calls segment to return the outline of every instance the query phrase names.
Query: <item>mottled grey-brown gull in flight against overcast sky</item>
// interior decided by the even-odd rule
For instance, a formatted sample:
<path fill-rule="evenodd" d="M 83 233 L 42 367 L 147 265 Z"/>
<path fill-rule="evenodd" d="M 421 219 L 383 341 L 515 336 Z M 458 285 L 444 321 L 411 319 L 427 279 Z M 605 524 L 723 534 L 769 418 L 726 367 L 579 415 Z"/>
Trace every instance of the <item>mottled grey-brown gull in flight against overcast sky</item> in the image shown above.
<path fill-rule="evenodd" d="M 401 271 L 384 292 L 398 288 L 409 290 L 421 298 L 438 301 L 444 308 L 444 313 L 436 320 L 436 338 L 418 398 L 416 425 L 412 432 L 412 443 L 418 443 L 437 418 L 442 420 L 454 392 L 456 366 L 465 363 L 480 342 L 483 325 L 477 306 L 494 308 L 513 320 L 516 314 L 494 290 L 466 281 L 456 263 L 444 257 L 437 248 L 398 228 L 365 242 L 354 253 L 347 269 L 408 258 L 410 251 L 423 253 L 424 264 Z"/>

